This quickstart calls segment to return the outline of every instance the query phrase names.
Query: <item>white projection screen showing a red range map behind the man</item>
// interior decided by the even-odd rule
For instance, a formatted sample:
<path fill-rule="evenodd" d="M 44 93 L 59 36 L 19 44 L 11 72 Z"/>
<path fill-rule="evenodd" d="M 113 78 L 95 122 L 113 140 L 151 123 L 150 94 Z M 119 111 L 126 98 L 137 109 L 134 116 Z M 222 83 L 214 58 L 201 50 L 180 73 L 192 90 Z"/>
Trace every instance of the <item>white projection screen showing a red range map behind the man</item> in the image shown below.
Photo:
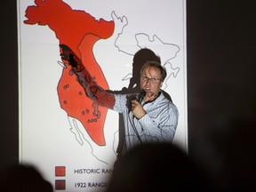
<path fill-rule="evenodd" d="M 185 0 L 17 4 L 21 164 L 35 165 L 56 191 L 103 191 L 113 171 L 118 113 L 94 108 L 89 116 L 92 102 L 86 96 L 77 101 L 74 92 L 84 92 L 73 77 L 67 79 L 60 44 L 77 47 L 81 57 L 92 52 L 90 68 L 109 90 L 129 86 L 133 57 L 141 48 L 160 56 L 168 73 L 162 88 L 180 112 L 173 143 L 187 151 Z"/>

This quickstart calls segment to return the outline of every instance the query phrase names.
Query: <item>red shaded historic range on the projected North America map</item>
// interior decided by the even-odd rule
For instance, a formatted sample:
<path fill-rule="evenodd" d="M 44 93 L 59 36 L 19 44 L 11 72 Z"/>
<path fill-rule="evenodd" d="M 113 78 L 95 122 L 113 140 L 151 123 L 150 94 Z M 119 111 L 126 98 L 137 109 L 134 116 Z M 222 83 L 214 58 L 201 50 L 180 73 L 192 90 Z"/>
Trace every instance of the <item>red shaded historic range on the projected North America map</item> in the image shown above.
<path fill-rule="evenodd" d="M 60 44 L 67 44 L 95 78 L 100 86 L 108 90 L 106 78 L 94 58 L 92 48 L 100 39 L 112 36 L 114 21 L 95 20 L 89 13 L 72 10 L 61 0 L 36 0 L 36 5 L 28 6 L 26 24 L 47 25 L 56 34 Z M 69 66 L 63 68 L 58 84 L 60 107 L 67 111 L 68 116 L 78 119 L 92 140 L 104 146 L 104 123 L 107 108 L 102 108 L 88 99 L 84 89 L 76 80 Z"/>

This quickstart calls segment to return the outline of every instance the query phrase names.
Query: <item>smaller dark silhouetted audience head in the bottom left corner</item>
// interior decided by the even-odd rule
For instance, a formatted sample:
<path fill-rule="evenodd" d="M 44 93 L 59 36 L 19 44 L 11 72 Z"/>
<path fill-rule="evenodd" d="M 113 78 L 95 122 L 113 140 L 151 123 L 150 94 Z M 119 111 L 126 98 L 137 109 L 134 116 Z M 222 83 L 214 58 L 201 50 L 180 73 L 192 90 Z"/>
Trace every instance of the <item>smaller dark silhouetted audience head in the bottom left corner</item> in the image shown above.
<path fill-rule="evenodd" d="M 52 192 L 52 184 L 44 180 L 32 165 L 17 164 L 4 168 L 0 176 L 1 191 Z"/>

